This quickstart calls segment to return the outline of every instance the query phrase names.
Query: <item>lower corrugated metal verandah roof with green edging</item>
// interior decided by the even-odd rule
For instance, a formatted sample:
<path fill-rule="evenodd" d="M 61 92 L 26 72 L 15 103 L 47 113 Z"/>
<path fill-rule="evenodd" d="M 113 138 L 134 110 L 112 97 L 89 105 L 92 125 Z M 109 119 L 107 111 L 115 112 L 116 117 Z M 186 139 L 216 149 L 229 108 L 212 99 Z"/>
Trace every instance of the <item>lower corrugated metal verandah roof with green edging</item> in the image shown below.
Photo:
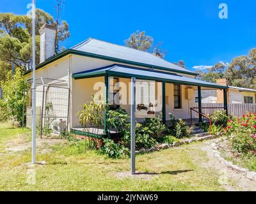
<path fill-rule="evenodd" d="M 164 73 L 163 71 L 147 70 L 142 68 L 136 68 L 131 66 L 125 66 L 122 64 L 112 64 L 103 68 L 91 69 L 88 71 L 82 71 L 74 73 L 73 78 L 88 78 L 95 76 L 102 76 L 108 73 L 112 77 L 136 77 L 138 79 L 156 80 L 159 82 L 170 82 L 184 85 L 200 85 L 202 87 L 214 87 L 220 89 L 226 89 L 226 86 L 214 84 L 211 82 L 205 82 L 202 80 L 196 80 L 195 78 L 184 77 L 174 73 Z"/>

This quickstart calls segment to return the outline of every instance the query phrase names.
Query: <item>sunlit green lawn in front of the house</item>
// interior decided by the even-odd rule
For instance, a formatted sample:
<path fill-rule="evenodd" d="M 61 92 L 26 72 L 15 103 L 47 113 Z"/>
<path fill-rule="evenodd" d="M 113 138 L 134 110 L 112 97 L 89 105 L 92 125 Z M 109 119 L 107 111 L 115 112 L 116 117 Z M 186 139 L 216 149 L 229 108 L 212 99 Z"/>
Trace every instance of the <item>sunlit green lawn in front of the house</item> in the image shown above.
<path fill-rule="evenodd" d="M 136 169 L 143 174 L 126 177 L 129 158 L 109 159 L 90 150 L 80 153 L 68 142 L 38 151 L 31 168 L 31 149 L 6 150 L 10 142 L 29 140 L 28 129 L 0 124 L 0 191 L 223 191 L 220 175 L 207 163 L 203 143 L 184 145 L 136 157 Z M 38 138 L 38 140 L 40 140 Z M 44 140 L 44 139 L 43 139 Z M 12 145 L 13 145 L 12 144 Z M 35 175 L 35 184 L 31 178 Z M 32 179 L 33 180 L 33 179 Z"/>

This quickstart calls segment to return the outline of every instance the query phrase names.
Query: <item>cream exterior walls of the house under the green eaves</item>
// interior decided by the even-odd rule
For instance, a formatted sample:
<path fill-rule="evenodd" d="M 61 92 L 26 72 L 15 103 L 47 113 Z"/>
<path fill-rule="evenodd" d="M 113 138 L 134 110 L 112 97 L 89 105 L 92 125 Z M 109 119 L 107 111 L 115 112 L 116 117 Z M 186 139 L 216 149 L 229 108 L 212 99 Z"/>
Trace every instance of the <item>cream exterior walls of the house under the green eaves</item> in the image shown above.
<path fill-rule="evenodd" d="M 111 64 L 115 64 L 112 61 L 106 61 L 101 59 L 96 59 L 92 57 L 84 57 L 80 55 L 67 55 L 57 61 L 51 62 L 47 64 L 44 68 L 36 70 L 36 78 L 45 77 L 45 78 L 54 78 L 65 80 L 68 82 L 68 69 L 70 68 L 70 73 L 77 73 L 80 71 L 86 71 L 89 69 L 100 68 L 104 66 L 108 66 Z M 129 65 L 129 64 L 127 64 Z M 148 68 L 145 68 L 148 69 Z M 191 75 L 184 75 L 186 77 L 194 78 Z M 25 77 L 26 79 L 31 78 L 31 74 Z M 83 108 L 84 103 L 90 101 L 92 99 L 93 94 L 96 91 L 93 91 L 93 85 L 95 82 L 104 83 L 104 77 L 95 77 L 95 78 L 84 78 L 75 80 L 74 78 L 70 78 L 70 121 L 71 127 L 79 126 L 79 120 L 77 112 Z M 130 78 L 119 78 L 119 82 L 124 82 L 129 87 Z M 161 83 L 160 83 L 161 84 Z M 157 87 L 157 83 L 156 83 Z M 160 85 L 161 87 L 161 85 Z M 169 119 L 168 113 L 171 112 L 177 119 L 188 119 L 190 117 L 189 108 L 195 106 L 195 98 L 190 96 L 189 98 L 185 98 L 185 89 L 188 88 L 187 85 L 182 85 L 182 108 L 179 110 L 173 108 L 173 84 L 166 83 L 166 120 Z M 160 89 L 159 89 L 160 90 Z M 127 89 L 127 102 L 129 102 L 130 90 Z M 159 94 L 159 99 L 161 103 L 162 94 Z M 42 98 L 40 94 L 36 97 L 38 103 L 36 106 L 42 106 Z M 157 92 L 156 92 L 157 99 Z M 130 112 L 130 106 L 121 105 L 122 108 Z"/>

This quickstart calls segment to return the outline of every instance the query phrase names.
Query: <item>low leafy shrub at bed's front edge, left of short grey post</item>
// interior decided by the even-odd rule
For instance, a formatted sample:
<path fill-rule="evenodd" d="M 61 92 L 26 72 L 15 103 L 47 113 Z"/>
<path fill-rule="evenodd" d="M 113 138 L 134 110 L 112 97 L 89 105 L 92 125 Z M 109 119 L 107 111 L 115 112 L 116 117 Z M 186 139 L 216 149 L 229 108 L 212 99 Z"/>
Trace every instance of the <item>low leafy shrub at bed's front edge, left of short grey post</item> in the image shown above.
<path fill-rule="evenodd" d="M 122 158 L 125 152 L 129 152 L 129 150 L 126 149 L 124 145 L 116 143 L 111 139 L 104 139 L 103 145 L 100 148 L 101 154 L 106 154 L 108 157 L 113 159 Z"/>

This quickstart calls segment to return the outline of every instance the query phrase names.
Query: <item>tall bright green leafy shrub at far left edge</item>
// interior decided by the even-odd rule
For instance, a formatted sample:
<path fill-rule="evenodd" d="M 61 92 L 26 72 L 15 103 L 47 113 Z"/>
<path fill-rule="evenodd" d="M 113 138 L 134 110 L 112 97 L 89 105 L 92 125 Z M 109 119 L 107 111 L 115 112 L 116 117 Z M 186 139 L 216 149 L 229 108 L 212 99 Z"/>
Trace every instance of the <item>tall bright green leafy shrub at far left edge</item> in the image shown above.
<path fill-rule="evenodd" d="M 22 122 L 24 91 L 28 89 L 28 84 L 22 78 L 20 69 L 15 71 L 13 77 L 10 71 L 7 79 L 1 82 L 3 98 L 0 100 L 0 120 L 10 120 L 13 125 L 19 126 Z"/>

